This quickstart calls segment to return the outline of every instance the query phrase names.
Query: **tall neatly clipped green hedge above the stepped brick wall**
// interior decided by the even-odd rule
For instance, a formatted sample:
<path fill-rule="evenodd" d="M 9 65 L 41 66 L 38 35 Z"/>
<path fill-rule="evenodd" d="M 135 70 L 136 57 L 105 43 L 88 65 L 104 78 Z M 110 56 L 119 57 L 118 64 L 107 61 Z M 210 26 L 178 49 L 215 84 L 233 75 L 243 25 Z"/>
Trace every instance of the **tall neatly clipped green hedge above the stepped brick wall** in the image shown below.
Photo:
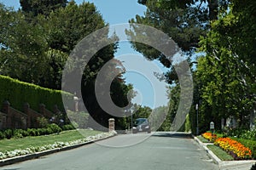
<path fill-rule="evenodd" d="M 25 103 L 28 103 L 35 111 L 39 111 L 40 104 L 44 104 L 49 111 L 53 111 L 54 105 L 64 111 L 61 93 L 71 100 L 70 104 L 73 104 L 73 94 L 60 90 L 42 88 L 5 76 L 0 76 L 0 85 L 0 102 L 8 100 L 11 106 L 19 111 L 24 110 Z M 72 108 L 72 106 L 68 105 L 67 107 Z"/>

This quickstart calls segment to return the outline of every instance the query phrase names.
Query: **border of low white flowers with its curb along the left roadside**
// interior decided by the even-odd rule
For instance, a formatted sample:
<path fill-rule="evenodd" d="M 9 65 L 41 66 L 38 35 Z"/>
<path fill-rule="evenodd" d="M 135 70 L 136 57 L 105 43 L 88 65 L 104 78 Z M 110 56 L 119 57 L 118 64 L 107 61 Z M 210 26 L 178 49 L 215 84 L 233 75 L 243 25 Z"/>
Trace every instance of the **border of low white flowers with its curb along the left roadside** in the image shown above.
<path fill-rule="evenodd" d="M 31 154 L 26 154 L 26 155 L 23 155 L 23 156 L 14 156 L 14 157 L 4 158 L 4 159 L 0 160 L 0 167 L 10 165 L 10 164 L 15 164 L 15 163 L 20 162 L 20 161 L 27 161 L 27 160 L 36 159 L 38 157 L 47 156 L 49 154 L 54 154 L 54 153 L 57 153 L 59 151 L 72 150 L 72 149 L 84 146 L 86 144 L 92 144 L 96 141 L 100 141 L 100 140 L 103 140 L 103 139 L 109 139 L 109 138 L 115 136 L 116 134 L 117 133 L 115 131 L 113 131 L 111 133 L 100 133 L 100 134 L 97 134 L 95 136 L 90 136 L 90 137 L 87 137 L 86 139 L 80 139 L 80 140 L 76 140 L 76 141 L 73 141 L 73 142 L 70 142 L 70 143 L 58 143 L 58 145 L 56 145 L 55 146 L 56 148 L 54 148 L 54 149 L 41 150 L 41 151 L 34 152 L 34 153 L 31 153 Z M 57 143 L 55 143 L 55 144 L 57 144 Z"/>

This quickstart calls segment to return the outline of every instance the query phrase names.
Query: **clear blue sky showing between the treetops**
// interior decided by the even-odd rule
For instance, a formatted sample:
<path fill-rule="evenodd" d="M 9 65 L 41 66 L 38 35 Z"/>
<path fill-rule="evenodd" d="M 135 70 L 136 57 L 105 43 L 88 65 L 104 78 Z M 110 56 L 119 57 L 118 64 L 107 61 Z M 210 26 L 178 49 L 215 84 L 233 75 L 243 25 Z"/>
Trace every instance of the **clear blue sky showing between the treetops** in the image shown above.
<path fill-rule="evenodd" d="M 20 0 L 0 0 L 0 2 L 15 7 L 15 9 L 20 8 Z M 82 2 L 83 0 L 76 0 L 76 3 Z M 127 23 L 136 14 L 143 15 L 146 11 L 146 7 L 138 4 L 137 0 L 89 0 L 89 2 L 95 3 L 103 19 L 110 25 Z M 131 48 L 129 42 L 119 42 L 119 50 L 115 56 L 124 61 L 125 67 L 127 66 L 125 81 L 132 83 L 137 90 L 138 95 L 133 102 L 152 108 L 166 105 L 168 102 L 166 83 L 157 81 L 153 73 L 166 71 L 159 62 L 149 62 L 144 59 L 142 54 Z M 127 60 L 127 58 L 129 59 Z"/>

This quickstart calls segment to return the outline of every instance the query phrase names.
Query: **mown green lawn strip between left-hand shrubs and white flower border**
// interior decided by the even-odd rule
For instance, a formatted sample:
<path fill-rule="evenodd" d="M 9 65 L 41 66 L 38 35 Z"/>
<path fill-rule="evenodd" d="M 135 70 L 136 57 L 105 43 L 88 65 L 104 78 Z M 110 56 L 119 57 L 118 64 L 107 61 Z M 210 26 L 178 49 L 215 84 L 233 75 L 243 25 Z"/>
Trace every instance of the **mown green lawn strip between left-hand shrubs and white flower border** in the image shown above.
<path fill-rule="evenodd" d="M 80 132 L 79 132 L 80 131 Z M 63 131 L 59 134 L 51 134 L 45 136 L 37 137 L 26 137 L 22 139 L 2 139 L 0 140 L 0 152 L 5 150 L 16 150 L 16 149 L 25 149 L 31 146 L 41 146 L 45 144 L 54 144 L 55 142 L 69 142 L 77 139 L 83 139 L 88 136 L 96 135 L 102 133 L 99 131 L 93 130 L 72 130 L 72 131 Z M 83 133 L 83 135 L 81 134 Z"/>

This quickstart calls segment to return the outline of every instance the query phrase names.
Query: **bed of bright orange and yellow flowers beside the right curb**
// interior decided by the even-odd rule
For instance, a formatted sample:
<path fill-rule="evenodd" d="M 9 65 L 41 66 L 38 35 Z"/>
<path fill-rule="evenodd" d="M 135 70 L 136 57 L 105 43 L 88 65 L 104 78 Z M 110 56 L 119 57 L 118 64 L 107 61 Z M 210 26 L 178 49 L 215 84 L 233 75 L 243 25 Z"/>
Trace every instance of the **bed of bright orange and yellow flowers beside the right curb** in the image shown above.
<path fill-rule="evenodd" d="M 236 160 L 252 159 L 252 150 L 236 140 L 230 138 L 218 138 L 215 140 L 214 144 L 230 153 Z"/>

